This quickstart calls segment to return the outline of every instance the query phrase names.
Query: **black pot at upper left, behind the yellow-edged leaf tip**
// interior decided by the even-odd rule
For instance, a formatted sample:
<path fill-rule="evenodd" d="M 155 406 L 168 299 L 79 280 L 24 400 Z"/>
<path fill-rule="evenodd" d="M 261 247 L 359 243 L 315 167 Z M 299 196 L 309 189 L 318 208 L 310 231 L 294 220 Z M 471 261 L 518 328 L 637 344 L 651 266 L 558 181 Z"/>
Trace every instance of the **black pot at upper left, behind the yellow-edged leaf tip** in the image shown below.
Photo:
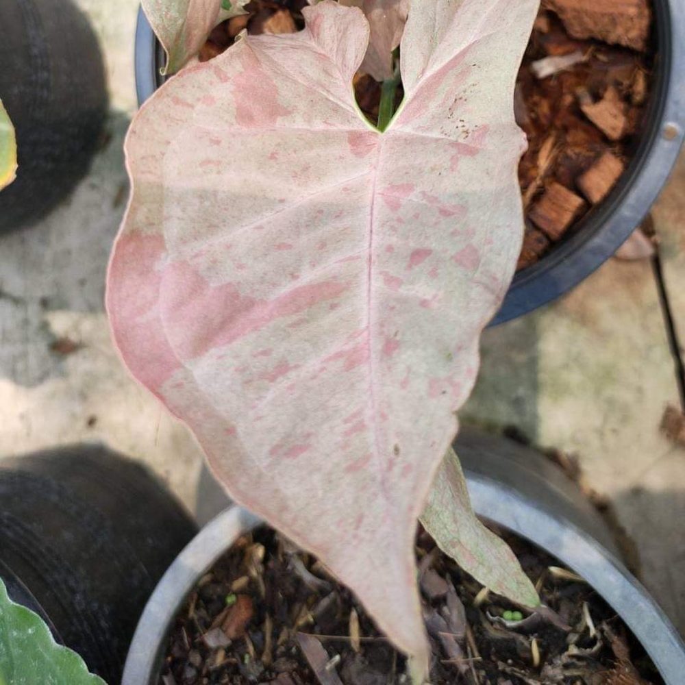
<path fill-rule="evenodd" d="M 95 34 L 72 0 L 0 3 L 0 99 L 19 168 L 0 193 L 0 233 L 47 214 L 88 171 L 107 109 Z"/>

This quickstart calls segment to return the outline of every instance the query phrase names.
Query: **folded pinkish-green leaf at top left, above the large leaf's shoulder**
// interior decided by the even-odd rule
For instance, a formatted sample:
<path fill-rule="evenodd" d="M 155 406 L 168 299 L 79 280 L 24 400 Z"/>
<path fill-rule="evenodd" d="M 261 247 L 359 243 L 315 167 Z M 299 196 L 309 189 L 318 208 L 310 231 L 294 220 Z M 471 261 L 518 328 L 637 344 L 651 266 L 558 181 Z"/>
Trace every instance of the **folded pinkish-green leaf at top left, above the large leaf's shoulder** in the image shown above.
<path fill-rule="evenodd" d="M 164 73 L 176 73 L 199 53 L 224 19 L 247 14 L 249 0 L 141 0 L 142 9 L 166 51 Z"/>

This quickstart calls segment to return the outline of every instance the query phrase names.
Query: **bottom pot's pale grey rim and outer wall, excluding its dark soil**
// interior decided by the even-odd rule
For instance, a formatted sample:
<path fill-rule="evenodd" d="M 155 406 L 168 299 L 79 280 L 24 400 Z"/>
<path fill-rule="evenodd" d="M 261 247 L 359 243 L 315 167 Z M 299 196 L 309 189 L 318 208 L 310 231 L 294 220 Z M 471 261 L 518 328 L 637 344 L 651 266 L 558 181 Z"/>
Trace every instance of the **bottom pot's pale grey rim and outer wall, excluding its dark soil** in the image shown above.
<path fill-rule="evenodd" d="M 530 540 L 582 575 L 630 627 L 664 681 L 682 683 L 685 645 L 616 559 L 608 527 L 564 473 L 532 449 L 469 429 L 462 430 L 456 449 L 477 514 Z M 145 607 L 123 685 L 158 685 L 166 640 L 184 599 L 234 540 L 259 524 L 249 512 L 229 507 L 182 551 Z"/>

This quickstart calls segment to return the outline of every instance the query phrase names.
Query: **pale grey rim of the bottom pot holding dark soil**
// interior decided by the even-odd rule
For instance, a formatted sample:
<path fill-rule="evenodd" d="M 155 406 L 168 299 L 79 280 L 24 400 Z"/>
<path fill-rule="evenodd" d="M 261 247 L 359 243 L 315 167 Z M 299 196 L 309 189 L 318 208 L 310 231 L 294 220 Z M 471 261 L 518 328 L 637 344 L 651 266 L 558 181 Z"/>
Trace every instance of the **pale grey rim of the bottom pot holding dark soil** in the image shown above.
<path fill-rule="evenodd" d="M 685 645 L 645 588 L 610 552 L 571 523 L 537 506 L 508 484 L 466 465 L 473 508 L 484 519 L 545 549 L 580 573 L 614 608 L 645 647 L 667 685 L 682 683 Z M 157 685 L 175 615 L 199 578 L 236 536 L 261 521 L 232 506 L 197 534 L 166 571 L 142 613 L 126 660 L 122 685 Z"/>

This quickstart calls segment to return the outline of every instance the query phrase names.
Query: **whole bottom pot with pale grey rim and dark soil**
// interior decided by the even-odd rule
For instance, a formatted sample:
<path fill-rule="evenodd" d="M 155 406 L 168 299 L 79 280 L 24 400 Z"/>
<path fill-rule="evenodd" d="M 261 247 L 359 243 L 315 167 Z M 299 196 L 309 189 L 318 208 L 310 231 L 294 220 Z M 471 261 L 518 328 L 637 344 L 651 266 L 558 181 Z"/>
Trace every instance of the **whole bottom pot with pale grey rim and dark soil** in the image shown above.
<path fill-rule="evenodd" d="M 682 682 L 684 645 L 571 480 L 503 438 L 464 430 L 457 449 L 475 510 L 506 536 L 547 608 L 489 595 L 420 532 L 430 682 Z M 408 682 L 403 661 L 321 564 L 231 507 L 155 589 L 123 685 L 386 685 Z"/>

